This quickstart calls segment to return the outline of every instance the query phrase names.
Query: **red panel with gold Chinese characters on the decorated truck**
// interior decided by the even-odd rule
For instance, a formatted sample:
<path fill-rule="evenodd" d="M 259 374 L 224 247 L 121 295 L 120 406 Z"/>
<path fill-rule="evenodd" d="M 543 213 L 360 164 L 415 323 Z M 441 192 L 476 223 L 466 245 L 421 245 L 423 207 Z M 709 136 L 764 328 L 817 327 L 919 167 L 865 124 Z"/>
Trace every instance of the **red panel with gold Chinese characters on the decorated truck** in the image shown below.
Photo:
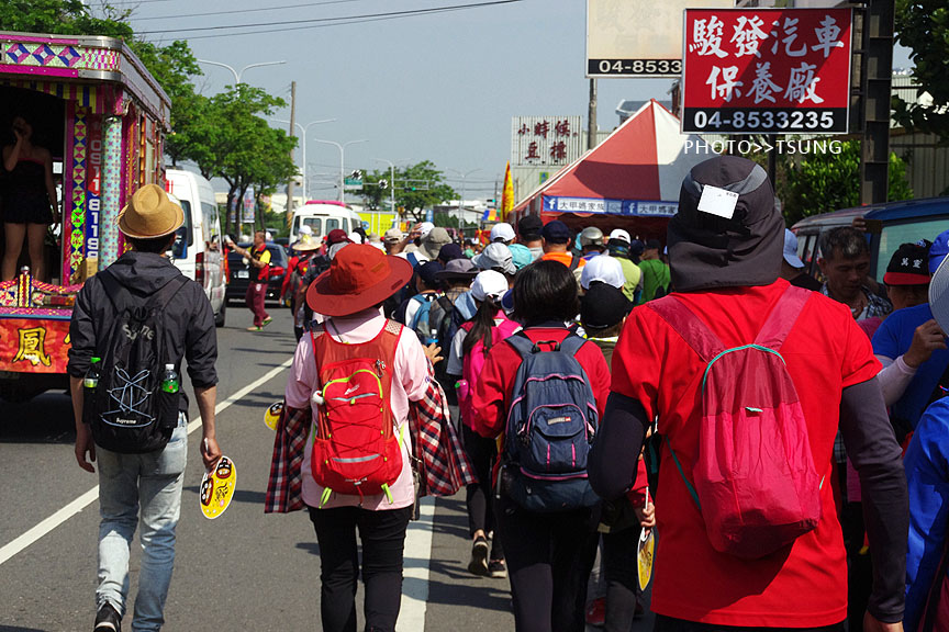
<path fill-rule="evenodd" d="M 0 319 L 0 371 L 66 373 L 69 320 Z"/>

